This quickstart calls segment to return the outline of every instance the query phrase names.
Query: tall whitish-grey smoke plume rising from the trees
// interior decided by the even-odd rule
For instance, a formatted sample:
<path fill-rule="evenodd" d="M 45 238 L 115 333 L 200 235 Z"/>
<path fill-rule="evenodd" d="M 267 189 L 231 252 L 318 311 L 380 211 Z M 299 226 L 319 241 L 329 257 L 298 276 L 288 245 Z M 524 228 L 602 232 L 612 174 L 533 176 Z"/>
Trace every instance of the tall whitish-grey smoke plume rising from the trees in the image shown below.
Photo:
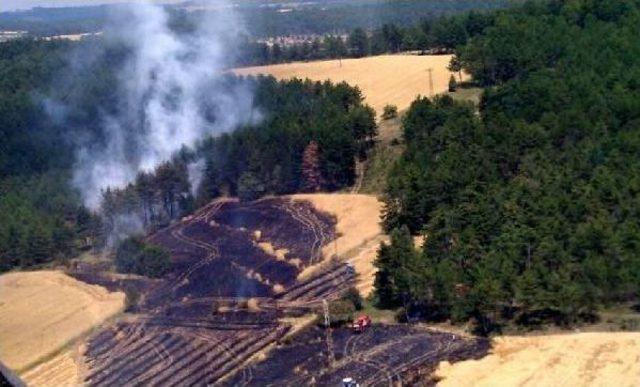
<path fill-rule="evenodd" d="M 128 54 L 113 85 L 117 113 L 101 113 L 101 140 L 83 138 L 75 155 L 73 185 L 91 209 L 99 208 L 107 187 L 125 187 L 183 146 L 259 116 L 248 86 L 229 85 L 223 76 L 242 32 L 232 7 L 206 13 L 180 32 L 171 24 L 169 11 L 150 3 L 118 7 L 110 17 L 105 45 L 121 45 Z M 202 166 L 189 170 L 199 184 Z"/>

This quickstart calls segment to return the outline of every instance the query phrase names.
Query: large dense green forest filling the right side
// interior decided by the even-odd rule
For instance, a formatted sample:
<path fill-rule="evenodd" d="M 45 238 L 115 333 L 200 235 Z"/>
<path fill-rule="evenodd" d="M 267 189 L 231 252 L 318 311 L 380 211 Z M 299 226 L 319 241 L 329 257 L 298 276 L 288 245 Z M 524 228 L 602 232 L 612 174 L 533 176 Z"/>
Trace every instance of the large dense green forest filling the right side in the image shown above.
<path fill-rule="evenodd" d="M 415 101 L 388 177 L 383 305 L 429 318 L 570 324 L 640 291 L 640 2 L 531 2 L 457 61 L 476 114 Z M 424 235 L 416 251 L 411 234 Z"/>

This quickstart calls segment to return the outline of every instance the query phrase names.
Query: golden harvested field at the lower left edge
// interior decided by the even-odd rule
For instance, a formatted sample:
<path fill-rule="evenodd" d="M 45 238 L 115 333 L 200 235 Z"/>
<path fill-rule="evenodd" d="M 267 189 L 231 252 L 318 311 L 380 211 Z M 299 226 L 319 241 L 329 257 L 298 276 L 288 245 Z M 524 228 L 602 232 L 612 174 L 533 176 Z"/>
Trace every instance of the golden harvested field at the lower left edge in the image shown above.
<path fill-rule="evenodd" d="M 0 359 L 19 373 L 124 308 L 124 293 L 109 293 L 57 271 L 0 276 Z"/>

